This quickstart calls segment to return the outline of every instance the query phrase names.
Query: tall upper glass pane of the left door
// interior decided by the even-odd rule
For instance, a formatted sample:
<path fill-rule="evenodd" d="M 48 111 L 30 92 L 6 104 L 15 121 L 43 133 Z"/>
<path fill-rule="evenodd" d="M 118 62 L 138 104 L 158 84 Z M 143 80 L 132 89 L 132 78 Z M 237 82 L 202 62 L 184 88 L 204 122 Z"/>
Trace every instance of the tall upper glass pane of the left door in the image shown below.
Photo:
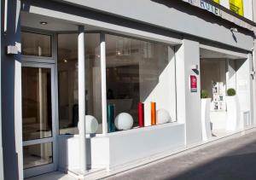
<path fill-rule="evenodd" d="M 49 68 L 22 67 L 23 141 L 52 136 Z"/>

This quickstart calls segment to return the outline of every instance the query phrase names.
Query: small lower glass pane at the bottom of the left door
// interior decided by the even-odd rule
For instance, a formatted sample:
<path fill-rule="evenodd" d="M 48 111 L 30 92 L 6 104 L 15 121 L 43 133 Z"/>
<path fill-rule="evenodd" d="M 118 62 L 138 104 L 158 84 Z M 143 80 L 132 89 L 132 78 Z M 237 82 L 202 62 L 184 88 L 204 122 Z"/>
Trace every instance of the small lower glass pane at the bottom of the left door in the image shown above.
<path fill-rule="evenodd" d="M 23 168 L 53 163 L 52 142 L 23 147 Z"/>

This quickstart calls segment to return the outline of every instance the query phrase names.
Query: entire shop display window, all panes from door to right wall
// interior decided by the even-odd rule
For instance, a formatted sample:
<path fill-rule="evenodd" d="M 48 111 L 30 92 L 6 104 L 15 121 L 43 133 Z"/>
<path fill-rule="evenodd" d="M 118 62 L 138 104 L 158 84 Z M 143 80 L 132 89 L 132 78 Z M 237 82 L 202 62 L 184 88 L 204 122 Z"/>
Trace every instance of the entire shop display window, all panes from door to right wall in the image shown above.
<path fill-rule="evenodd" d="M 88 126 L 90 130 L 96 128 L 93 133 L 102 133 L 102 125 L 107 132 L 114 132 L 175 122 L 174 47 L 102 35 L 106 43 L 102 47 L 106 49 L 106 69 L 101 66 L 100 34 L 85 35 L 86 131 Z M 78 34 L 58 35 L 60 134 L 79 133 L 77 39 Z M 102 79 L 102 72 L 106 73 L 106 79 Z M 106 86 L 102 86 L 105 82 Z M 106 88 L 104 96 L 102 88 Z M 105 112 L 102 106 L 106 114 L 102 114 Z M 98 125 L 94 125 L 95 121 Z"/>

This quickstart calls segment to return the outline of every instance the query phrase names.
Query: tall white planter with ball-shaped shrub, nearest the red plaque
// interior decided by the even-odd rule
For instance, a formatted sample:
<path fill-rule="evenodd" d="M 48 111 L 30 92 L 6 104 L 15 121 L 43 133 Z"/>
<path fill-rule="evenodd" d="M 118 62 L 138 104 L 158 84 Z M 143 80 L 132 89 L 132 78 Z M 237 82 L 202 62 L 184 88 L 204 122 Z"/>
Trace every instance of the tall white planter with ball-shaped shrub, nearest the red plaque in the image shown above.
<path fill-rule="evenodd" d="M 207 141 L 212 136 L 210 107 L 211 98 L 209 98 L 207 90 L 201 90 L 201 130 L 203 141 Z"/>

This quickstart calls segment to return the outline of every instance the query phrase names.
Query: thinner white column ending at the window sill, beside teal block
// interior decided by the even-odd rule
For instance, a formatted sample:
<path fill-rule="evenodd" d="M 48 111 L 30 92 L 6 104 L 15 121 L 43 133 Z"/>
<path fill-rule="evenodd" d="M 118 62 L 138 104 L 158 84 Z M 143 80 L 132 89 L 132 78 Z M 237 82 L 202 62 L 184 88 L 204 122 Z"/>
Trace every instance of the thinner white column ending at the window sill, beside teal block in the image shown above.
<path fill-rule="evenodd" d="M 101 74 L 102 74 L 102 134 L 108 133 L 107 123 L 107 83 L 106 83 L 106 42 L 101 33 Z"/>

